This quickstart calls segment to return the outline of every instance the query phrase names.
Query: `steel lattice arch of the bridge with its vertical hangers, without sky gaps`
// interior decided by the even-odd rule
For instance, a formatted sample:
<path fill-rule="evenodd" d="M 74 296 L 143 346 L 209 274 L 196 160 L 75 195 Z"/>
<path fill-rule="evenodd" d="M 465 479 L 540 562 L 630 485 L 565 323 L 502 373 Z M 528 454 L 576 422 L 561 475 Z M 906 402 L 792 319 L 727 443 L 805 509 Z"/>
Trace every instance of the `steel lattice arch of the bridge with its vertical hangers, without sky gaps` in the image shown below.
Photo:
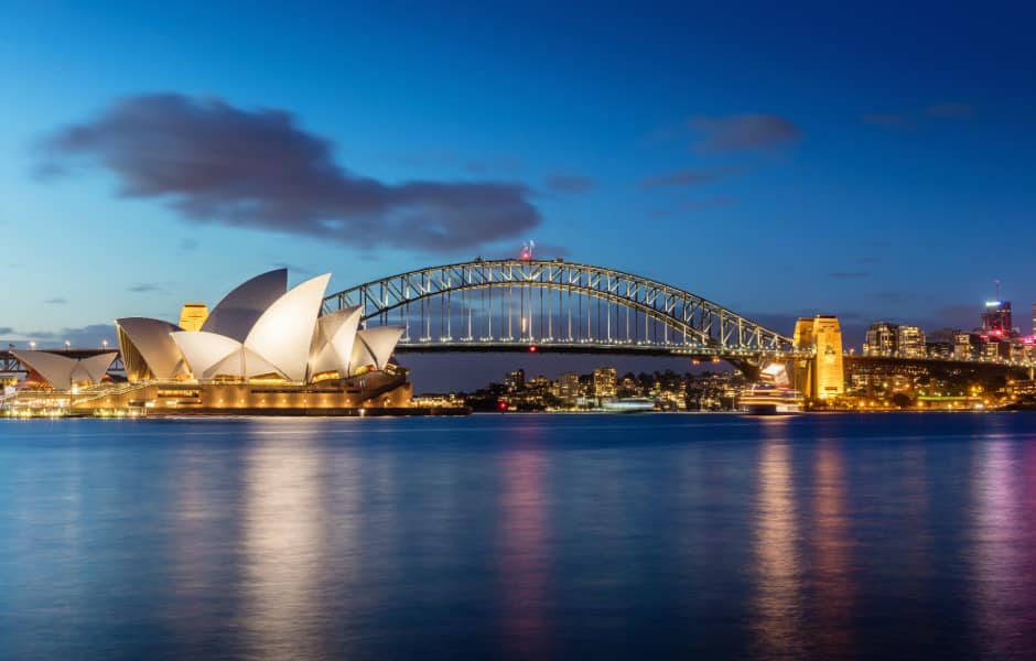
<path fill-rule="evenodd" d="M 529 292 L 530 310 L 533 305 L 531 293 L 540 292 L 541 312 L 543 292 L 547 292 L 548 296 L 557 293 L 559 299 L 574 294 L 604 302 L 605 305 L 614 305 L 616 330 L 618 330 L 618 312 L 625 308 L 627 338 L 620 339 L 616 337 L 619 333 L 612 333 L 609 316 L 606 336 L 598 337 L 593 333 L 587 333 L 589 337 L 582 336 L 576 339 L 572 333 L 571 308 L 568 311 L 568 327 L 562 319 L 558 319 L 554 326 L 552 316 L 544 327 L 540 318 L 540 333 L 536 334 L 530 312 L 529 327 L 522 329 L 517 338 L 514 336 L 512 328 L 507 329 L 505 334 L 505 329 L 499 327 L 497 329 L 501 334 L 500 337 L 494 336 L 492 332 L 475 337 L 473 332 L 473 316 L 476 312 L 474 306 L 477 304 L 475 299 L 481 295 L 484 301 L 487 295 L 490 296 L 488 322 L 492 329 L 493 292 L 498 291 L 503 295 L 506 291 L 508 296 L 512 296 L 516 289 Z M 456 316 L 454 297 L 461 303 L 458 323 L 463 328 L 461 329 L 462 336 L 458 338 L 453 337 L 450 327 L 453 324 L 453 317 Z M 434 307 L 432 302 L 436 299 L 444 302 L 441 305 L 443 311 L 450 311 L 446 315 L 449 317 L 446 328 L 450 329 L 443 329 L 438 338 L 432 337 L 431 326 L 427 318 Z M 499 303 L 503 304 L 503 301 Z M 511 304 L 512 299 L 508 299 L 508 305 Z M 325 312 L 357 305 L 363 307 L 363 319 L 367 325 L 408 324 L 407 333 L 397 346 L 398 350 L 404 351 L 508 350 L 536 344 L 543 348 L 587 353 L 625 351 L 722 357 L 796 354 L 791 338 L 691 292 L 614 269 L 562 260 L 478 259 L 390 275 L 339 291 L 324 299 Z M 424 319 L 422 323 L 427 324 L 423 328 L 424 334 L 417 338 L 411 335 L 409 325 L 414 308 L 419 310 L 420 318 Z M 663 330 L 662 337 L 654 339 L 645 337 L 637 343 L 630 342 L 628 339 L 630 312 L 639 315 L 638 318 L 645 319 L 645 325 L 647 325 L 647 319 L 657 324 L 656 335 L 660 327 Z M 550 310 L 549 313 L 552 315 L 553 311 Z M 465 314 L 467 315 L 466 325 Z M 590 314 L 587 310 L 587 316 L 580 318 L 579 323 L 587 323 Z M 611 315 L 611 310 L 608 314 Z M 484 323 L 484 319 L 481 323 Z M 466 334 L 464 334 L 465 328 Z M 645 329 L 645 335 L 647 335 L 647 329 Z"/>

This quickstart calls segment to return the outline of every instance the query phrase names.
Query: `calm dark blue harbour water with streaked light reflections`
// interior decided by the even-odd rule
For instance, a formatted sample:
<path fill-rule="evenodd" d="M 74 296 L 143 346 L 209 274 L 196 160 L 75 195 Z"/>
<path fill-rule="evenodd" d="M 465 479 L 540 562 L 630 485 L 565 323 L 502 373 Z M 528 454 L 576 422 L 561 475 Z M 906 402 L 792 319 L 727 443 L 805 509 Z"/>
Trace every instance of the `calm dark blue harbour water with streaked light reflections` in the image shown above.
<path fill-rule="evenodd" d="M 0 422 L 0 658 L 1026 657 L 1036 415 Z"/>

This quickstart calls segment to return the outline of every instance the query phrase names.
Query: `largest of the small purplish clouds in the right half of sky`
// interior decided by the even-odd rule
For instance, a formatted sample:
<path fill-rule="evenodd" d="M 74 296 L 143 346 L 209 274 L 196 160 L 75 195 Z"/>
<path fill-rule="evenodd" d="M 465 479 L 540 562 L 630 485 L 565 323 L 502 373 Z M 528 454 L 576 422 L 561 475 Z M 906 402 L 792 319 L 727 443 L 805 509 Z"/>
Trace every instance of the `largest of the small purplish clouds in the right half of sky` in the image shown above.
<path fill-rule="evenodd" d="M 689 124 L 701 137 L 695 148 L 706 153 L 770 151 L 802 137 L 802 129 L 778 115 L 699 116 Z"/>

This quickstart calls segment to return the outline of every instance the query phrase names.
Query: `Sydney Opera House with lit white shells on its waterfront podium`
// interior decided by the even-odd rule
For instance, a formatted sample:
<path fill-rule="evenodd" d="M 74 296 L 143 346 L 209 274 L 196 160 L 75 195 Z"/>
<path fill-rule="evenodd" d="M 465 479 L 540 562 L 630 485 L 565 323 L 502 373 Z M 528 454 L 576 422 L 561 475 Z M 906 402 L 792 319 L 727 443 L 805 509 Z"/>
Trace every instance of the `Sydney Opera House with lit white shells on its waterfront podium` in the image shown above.
<path fill-rule="evenodd" d="M 19 400 L 35 393 L 73 410 L 148 413 L 408 408 L 407 370 L 390 360 L 403 329 L 360 328 L 359 307 L 322 315 L 330 278 L 289 290 L 279 269 L 239 285 L 211 313 L 185 305 L 180 325 L 118 319 L 125 381 L 106 376 L 114 351 L 83 359 L 14 351 L 30 370 Z"/>

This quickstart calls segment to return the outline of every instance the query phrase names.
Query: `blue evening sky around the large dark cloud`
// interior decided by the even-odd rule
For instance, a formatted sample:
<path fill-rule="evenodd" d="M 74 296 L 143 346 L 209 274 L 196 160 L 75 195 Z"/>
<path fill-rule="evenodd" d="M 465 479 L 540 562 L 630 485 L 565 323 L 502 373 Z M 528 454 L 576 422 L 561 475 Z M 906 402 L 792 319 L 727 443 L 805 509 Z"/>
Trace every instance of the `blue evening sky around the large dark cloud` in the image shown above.
<path fill-rule="evenodd" d="M 530 238 L 541 257 L 654 277 L 785 333 L 814 312 L 851 333 L 970 326 L 993 279 L 1032 330 L 1028 3 L 0 8 L 10 342 L 89 344 L 97 324 L 175 318 L 279 264 L 293 282 L 333 271 L 334 290 Z M 102 150 L 136 149 L 125 124 L 106 124 L 100 151 L 43 147 L 159 94 L 290 112 L 337 166 L 386 186 L 525 186 L 535 216 L 452 250 L 319 237 L 291 217 L 201 221 L 176 191 L 121 194 L 137 162 Z M 40 176 L 44 156 L 64 174 Z"/>

